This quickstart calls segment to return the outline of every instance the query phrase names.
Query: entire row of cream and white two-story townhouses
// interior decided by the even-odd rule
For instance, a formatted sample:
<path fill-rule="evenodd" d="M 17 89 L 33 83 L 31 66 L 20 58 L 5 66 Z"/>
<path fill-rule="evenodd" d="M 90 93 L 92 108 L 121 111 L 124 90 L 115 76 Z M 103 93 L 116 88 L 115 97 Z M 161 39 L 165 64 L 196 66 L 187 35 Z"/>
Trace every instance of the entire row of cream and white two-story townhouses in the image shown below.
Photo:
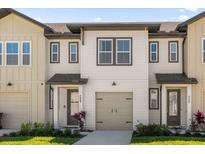
<path fill-rule="evenodd" d="M 183 23 L 39 23 L 0 9 L 3 128 L 187 128 L 205 112 L 205 12 Z"/>

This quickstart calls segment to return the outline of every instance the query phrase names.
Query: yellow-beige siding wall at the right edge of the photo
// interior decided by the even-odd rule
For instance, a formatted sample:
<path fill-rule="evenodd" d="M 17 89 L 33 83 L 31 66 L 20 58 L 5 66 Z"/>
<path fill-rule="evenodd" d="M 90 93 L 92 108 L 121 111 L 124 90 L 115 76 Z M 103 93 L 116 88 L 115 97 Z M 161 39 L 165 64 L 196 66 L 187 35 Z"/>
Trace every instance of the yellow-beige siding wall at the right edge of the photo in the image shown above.
<path fill-rule="evenodd" d="M 205 64 L 202 63 L 202 38 L 205 38 L 205 17 L 188 25 L 186 73 L 195 77 L 198 84 L 192 85 L 192 112 L 205 112 Z"/>

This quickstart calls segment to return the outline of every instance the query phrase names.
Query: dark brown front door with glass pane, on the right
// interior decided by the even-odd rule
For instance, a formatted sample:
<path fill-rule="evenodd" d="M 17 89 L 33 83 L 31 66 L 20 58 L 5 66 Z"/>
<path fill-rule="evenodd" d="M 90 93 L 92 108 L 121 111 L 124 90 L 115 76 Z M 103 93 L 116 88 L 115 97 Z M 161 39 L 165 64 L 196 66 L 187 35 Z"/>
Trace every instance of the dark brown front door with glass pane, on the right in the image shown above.
<path fill-rule="evenodd" d="M 167 125 L 180 125 L 180 90 L 167 90 Z"/>

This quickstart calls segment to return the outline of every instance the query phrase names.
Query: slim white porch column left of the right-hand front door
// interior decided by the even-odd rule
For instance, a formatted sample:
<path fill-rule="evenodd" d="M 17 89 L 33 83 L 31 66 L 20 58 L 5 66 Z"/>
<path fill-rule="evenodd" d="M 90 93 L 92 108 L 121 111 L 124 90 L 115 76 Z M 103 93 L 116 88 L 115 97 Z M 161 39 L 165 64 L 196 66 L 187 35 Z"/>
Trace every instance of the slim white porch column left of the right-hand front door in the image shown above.
<path fill-rule="evenodd" d="M 167 125 L 167 91 L 165 85 L 162 85 L 162 124 Z"/>

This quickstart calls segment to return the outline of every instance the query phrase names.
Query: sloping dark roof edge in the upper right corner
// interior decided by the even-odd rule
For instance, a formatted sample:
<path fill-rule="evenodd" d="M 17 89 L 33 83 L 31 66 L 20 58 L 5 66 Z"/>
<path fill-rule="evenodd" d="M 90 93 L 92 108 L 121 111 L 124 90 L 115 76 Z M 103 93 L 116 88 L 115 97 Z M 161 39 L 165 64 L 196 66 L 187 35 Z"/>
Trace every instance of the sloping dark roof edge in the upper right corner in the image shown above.
<path fill-rule="evenodd" d="M 203 11 L 202 13 L 200 13 L 200 14 L 198 14 L 198 15 L 190 18 L 190 19 L 188 19 L 187 21 L 179 24 L 177 26 L 177 30 L 179 30 L 179 31 L 186 31 L 187 30 L 187 26 L 189 24 L 191 24 L 191 23 L 193 23 L 193 22 L 195 22 L 195 21 L 197 21 L 197 20 L 199 20 L 199 19 L 201 19 L 203 17 L 205 17 L 205 11 Z"/>

